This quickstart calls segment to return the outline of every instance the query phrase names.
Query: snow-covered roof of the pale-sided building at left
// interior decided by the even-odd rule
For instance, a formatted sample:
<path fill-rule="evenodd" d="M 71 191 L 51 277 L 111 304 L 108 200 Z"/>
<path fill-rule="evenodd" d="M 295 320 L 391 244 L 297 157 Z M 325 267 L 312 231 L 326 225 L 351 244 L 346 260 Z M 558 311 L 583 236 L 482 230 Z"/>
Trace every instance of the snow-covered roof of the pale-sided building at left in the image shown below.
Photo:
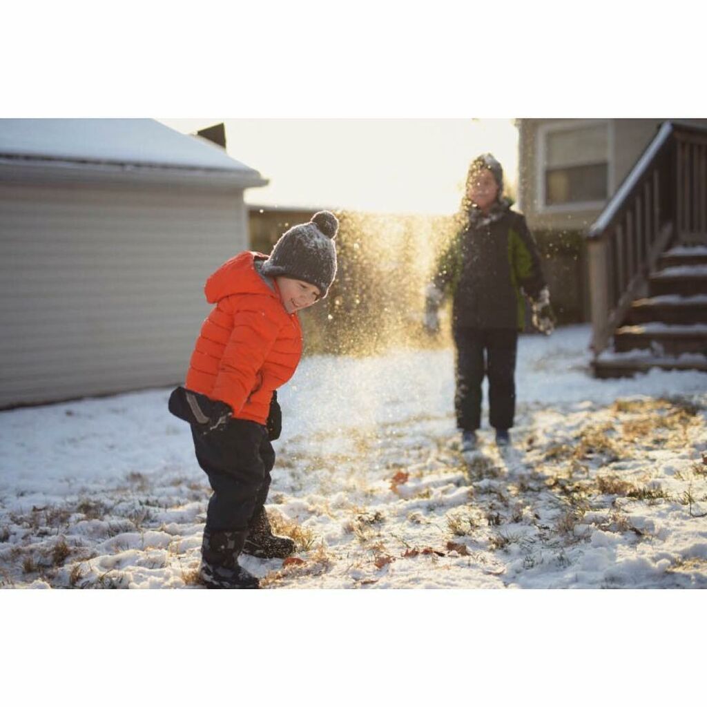
<path fill-rule="evenodd" d="M 217 170 L 267 183 L 210 141 L 143 118 L 0 119 L 0 157 Z"/>

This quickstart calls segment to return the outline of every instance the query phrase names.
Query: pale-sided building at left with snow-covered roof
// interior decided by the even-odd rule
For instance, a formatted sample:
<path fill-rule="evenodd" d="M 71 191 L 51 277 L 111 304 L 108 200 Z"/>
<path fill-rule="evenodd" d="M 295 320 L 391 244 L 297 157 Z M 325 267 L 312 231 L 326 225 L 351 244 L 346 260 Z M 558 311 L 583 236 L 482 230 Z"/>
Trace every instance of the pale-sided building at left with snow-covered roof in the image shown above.
<path fill-rule="evenodd" d="M 183 380 L 259 173 L 148 119 L 0 119 L 0 407 Z"/>

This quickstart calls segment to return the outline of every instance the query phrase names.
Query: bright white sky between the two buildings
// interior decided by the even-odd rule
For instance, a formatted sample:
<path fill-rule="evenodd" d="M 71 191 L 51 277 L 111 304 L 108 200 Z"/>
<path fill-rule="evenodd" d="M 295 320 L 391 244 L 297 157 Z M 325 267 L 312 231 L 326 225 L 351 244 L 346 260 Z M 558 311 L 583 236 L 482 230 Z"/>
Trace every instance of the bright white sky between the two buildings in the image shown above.
<path fill-rule="evenodd" d="M 270 180 L 249 204 L 451 214 L 469 162 L 501 161 L 515 189 L 518 130 L 511 119 L 160 119 L 180 132 L 226 123 L 230 156 Z"/>

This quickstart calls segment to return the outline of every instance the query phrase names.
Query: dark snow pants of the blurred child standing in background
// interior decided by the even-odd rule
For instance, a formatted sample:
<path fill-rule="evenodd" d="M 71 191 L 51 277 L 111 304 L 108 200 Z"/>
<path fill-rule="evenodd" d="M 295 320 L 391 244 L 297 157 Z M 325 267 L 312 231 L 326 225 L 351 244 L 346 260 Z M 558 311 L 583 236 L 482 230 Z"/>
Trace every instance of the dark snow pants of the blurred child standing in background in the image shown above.
<path fill-rule="evenodd" d="M 518 331 L 455 327 L 454 339 L 457 345 L 454 399 L 457 427 L 462 430 L 481 427 L 481 382 L 484 375 L 489 376 L 491 427 L 497 430 L 513 427 Z"/>

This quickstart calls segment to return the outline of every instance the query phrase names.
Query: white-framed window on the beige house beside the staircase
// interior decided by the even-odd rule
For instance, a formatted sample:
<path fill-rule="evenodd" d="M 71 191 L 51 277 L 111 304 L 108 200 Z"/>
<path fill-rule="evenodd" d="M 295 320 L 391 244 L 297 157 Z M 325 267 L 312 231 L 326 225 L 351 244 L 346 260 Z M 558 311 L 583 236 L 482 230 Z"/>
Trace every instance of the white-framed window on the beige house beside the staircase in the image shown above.
<path fill-rule="evenodd" d="M 609 196 L 606 122 L 551 127 L 544 134 L 544 206 L 603 202 Z"/>

